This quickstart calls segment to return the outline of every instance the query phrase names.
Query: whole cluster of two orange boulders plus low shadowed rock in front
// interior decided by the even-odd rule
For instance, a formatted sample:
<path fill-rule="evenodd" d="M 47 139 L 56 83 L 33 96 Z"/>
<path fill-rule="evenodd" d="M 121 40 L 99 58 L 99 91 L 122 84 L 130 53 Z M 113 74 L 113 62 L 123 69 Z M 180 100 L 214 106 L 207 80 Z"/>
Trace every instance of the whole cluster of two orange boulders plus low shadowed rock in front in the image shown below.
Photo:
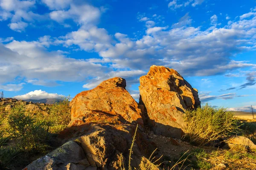
<path fill-rule="evenodd" d="M 127 167 L 136 124 L 140 130 L 132 148 L 131 167 L 145 169 L 151 164 L 146 158 L 155 147 L 141 132 L 143 121 L 157 134 L 180 138 L 186 128 L 185 109 L 200 107 L 197 90 L 175 70 L 163 66 L 151 66 L 140 78 L 139 106 L 125 86 L 125 79 L 111 78 L 76 95 L 70 102 L 68 128 L 58 135 L 64 145 L 24 170 L 117 170 L 122 162 Z M 168 142 L 179 145 L 174 139 Z M 153 164 L 150 167 L 158 169 Z"/>

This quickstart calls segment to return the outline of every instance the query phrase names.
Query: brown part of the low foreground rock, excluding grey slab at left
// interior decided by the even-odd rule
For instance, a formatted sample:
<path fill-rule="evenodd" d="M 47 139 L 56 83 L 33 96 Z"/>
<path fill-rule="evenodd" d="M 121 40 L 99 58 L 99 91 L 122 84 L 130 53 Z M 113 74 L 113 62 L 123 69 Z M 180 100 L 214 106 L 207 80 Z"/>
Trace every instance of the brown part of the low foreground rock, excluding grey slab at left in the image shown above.
<path fill-rule="evenodd" d="M 91 167 L 117 170 L 120 162 L 128 165 L 125 158 L 128 158 L 134 132 L 135 126 L 131 124 L 87 123 L 70 127 L 58 137 L 76 141 L 83 148 Z M 154 149 L 138 129 L 131 166 L 139 167 L 142 157 L 149 157 Z"/>

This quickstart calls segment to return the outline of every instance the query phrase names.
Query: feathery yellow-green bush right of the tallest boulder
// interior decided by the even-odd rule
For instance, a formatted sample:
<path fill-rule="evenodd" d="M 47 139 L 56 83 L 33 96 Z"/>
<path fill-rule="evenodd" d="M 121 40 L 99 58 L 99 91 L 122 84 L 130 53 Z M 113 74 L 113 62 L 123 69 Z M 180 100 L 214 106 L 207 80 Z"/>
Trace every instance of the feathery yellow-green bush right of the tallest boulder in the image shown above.
<path fill-rule="evenodd" d="M 205 145 L 239 130 L 232 112 L 224 108 L 214 109 L 208 104 L 196 110 L 187 110 L 185 121 L 187 133 L 183 139 L 198 145 Z"/>

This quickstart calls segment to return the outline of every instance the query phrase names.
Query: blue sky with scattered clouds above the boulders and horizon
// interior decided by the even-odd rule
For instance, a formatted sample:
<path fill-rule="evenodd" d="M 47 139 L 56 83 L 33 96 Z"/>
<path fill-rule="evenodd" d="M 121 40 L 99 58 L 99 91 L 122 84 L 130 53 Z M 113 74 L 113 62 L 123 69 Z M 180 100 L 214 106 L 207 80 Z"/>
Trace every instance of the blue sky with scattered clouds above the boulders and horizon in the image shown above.
<path fill-rule="evenodd" d="M 256 0 L 0 0 L 0 90 L 74 97 L 122 77 L 138 98 L 151 65 L 176 69 L 203 104 L 256 106 Z"/>

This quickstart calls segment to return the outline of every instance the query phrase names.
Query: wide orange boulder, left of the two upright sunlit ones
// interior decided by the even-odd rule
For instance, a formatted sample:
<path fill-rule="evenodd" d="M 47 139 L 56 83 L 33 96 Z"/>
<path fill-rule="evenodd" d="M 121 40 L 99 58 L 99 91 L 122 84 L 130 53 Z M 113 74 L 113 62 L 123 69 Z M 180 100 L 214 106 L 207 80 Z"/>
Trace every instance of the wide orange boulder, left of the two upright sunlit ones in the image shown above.
<path fill-rule="evenodd" d="M 92 121 L 108 122 L 108 119 L 95 116 L 98 114 L 106 117 L 115 116 L 129 123 L 136 122 L 140 125 L 140 129 L 143 129 L 141 110 L 125 86 L 125 79 L 111 78 L 103 81 L 94 89 L 76 95 L 70 102 L 71 121 L 68 127 L 79 126 Z M 119 115 L 122 118 L 119 118 Z"/>

